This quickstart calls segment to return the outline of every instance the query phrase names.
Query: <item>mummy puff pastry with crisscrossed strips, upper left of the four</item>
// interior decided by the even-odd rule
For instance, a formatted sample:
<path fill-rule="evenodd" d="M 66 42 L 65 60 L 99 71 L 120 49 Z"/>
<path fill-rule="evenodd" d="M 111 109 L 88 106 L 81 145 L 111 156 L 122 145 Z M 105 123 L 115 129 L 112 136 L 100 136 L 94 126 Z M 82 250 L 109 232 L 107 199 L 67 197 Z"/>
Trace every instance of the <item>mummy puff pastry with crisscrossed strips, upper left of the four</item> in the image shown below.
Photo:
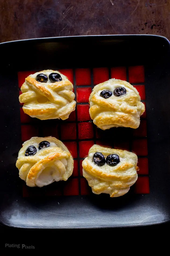
<path fill-rule="evenodd" d="M 72 83 L 59 71 L 43 70 L 25 79 L 19 101 L 31 117 L 65 120 L 75 110 L 72 89 Z"/>

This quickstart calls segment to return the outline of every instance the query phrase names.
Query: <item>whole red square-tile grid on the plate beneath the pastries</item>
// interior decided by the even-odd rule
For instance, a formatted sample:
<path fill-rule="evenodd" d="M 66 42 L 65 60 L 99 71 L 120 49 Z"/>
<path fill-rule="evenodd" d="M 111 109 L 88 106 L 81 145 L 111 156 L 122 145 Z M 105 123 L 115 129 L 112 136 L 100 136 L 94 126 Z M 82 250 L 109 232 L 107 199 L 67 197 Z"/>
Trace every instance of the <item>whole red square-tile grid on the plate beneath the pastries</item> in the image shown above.
<path fill-rule="evenodd" d="M 66 182 L 54 182 L 51 185 L 39 188 L 28 188 L 23 185 L 23 196 L 70 196 L 70 195 L 88 195 L 91 188 L 88 182 L 83 178 L 82 161 L 88 155 L 89 148 L 94 144 L 99 144 L 105 147 L 112 147 L 110 142 L 102 140 L 103 131 L 98 129 L 92 122 L 89 115 L 89 96 L 92 91 L 91 73 L 93 74 L 93 84 L 99 84 L 109 79 L 109 69 L 103 68 L 77 68 L 59 70 L 66 75 L 68 79 L 74 84 L 77 106 L 69 118 L 62 122 L 53 122 L 50 126 L 43 124 L 39 127 L 36 125 L 35 118 L 24 114 L 20 108 L 21 116 L 21 136 L 22 141 L 26 141 L 33 136 L 53 136 L 63 141 L 67 146 L 71 155 L 74 158 L 74 169 L 72 176 Z M 35 71 L 19 72 L 19 88 L 25 81 L 25 78 L 33 74 Z M 75 72 L 75 81 L 74 81 Z M 139 84 L 135 85 L 142 101 L 145 101 L 145 85 L 144 83 L 144 67 L 112 67 L 110 69 L 111 78 L 127 79 L 129 75 L 129 82 Z M 142 84 L 141 84 L 142 83 Z M 21 91 L 19 92 L 21 94 Z M 145 102 L 143 102 L 145 104 Z M 20 104 L 23 105 L 23 104 Z M 146 104 L 145 104 L 146 105 Z M 35 123 L 35 125 L 34 125 Z M 41 131 L 41 135 L 39 134 Z M 94 133 L 95 131 L 95 133 Z M 105 133 L 107 131 L 104 131 Z M 120 141 L 114 139 L 114 148 L 133 151 L 138 155 L 138 180 L 135 183 L 135 193 L 149 193 L 149 171 L 147 158 L 147 123 L 146 111 L 141 117 L 140 126 L 133 130 L 133 139 L 128 138 Z M 142 175 L 142 176 L 140 176 Z M 143 176 L 145 175 L 145 176 Z"/>

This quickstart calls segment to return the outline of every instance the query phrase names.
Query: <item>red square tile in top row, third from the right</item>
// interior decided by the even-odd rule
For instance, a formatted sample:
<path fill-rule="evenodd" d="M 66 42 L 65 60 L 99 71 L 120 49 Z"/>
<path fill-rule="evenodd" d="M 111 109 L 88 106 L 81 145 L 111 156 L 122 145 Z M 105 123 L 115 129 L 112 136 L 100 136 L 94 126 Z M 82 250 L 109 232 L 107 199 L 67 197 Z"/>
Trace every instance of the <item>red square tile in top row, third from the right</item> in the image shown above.
<path fill-rule="evenodd" d="M 108 68 L 93 68 L 93 84 L 100 84 L 109 79 Z"/>

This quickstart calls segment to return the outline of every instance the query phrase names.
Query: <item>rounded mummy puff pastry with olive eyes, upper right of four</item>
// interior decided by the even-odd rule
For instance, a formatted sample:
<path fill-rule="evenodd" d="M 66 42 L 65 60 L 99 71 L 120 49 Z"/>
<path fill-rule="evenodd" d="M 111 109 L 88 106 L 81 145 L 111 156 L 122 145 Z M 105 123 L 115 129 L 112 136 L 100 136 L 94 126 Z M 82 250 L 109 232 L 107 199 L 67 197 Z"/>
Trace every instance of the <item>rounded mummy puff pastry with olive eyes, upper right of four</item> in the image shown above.
<path fill-rule="evenodd" d="M 136 88 L 114 78 L 96 85 L 89 102 L 93 123 L 102 130 L 119 126 L 136 129 L 145 110 Z"/>

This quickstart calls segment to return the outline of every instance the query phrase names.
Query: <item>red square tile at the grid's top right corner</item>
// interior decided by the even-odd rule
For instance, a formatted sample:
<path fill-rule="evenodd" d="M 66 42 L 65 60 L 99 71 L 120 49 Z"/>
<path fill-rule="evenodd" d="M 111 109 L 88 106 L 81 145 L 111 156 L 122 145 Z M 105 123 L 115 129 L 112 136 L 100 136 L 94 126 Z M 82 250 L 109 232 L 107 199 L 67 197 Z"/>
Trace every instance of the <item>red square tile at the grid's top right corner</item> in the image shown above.
<path fill-rule="evenodd" d="M 144 66 L 129 67 L 129 83 L 144 83 Z"/>

